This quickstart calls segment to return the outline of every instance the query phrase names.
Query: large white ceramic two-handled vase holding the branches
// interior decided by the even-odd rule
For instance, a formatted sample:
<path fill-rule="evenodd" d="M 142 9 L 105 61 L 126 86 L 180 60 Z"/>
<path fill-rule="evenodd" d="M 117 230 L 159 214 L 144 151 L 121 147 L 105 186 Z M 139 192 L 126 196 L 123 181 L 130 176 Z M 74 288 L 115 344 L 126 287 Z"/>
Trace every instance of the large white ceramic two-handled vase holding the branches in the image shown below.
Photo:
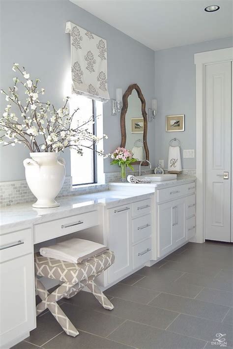
<path fill-rule="evenodd" d="M 65 160 L 54 152 L 30 153 L 31 159 L 24 160 L 26 180 L 37 198 L 32 207 L 58 207 L 56 196 L 65 180 Z"/>

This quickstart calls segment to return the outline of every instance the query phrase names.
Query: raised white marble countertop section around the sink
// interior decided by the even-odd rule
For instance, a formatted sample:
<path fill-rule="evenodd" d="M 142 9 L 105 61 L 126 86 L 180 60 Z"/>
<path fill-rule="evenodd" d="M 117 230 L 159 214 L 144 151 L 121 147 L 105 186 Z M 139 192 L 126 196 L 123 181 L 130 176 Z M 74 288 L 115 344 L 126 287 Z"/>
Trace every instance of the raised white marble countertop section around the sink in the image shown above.
<path fill-rule="evenodd" d="M 165 180 L 161 182 L 151 182 L 151 183 L 129 183 L 129 182 L 111 182 L 109 183 L 109 186 L 112 190 L 114 190 L 114 187 L 117 186 L 124 186 L 127 188 L 156 188 L 156 189 L 163 189 L 163 188 L 169 188 L 169 187 L 174 187 L 175 185 L 181 185 L 181 184 L 187 184 L 191 183 L 196 180 L 196 177 L 191 177 L 191 176 L 179 176 L 177 179 L 172 179 L 172 180 Z M 154 189 L 155 190 L 155 189 Z"/>

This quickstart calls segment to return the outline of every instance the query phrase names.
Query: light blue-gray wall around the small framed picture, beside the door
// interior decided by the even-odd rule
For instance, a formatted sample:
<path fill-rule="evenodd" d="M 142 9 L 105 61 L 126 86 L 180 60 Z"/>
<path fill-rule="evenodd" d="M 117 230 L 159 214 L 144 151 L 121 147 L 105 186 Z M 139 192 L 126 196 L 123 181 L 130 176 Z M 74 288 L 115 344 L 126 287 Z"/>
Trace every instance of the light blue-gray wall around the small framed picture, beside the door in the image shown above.
<path fill-rule="evenodd" d="M 194 54 L 233 46 L 233 38 L 224 38 L 194 45 L 155 52 L 155 96 L 158 115 L 155 120 L 156 163 L 164 159 L 167 168 L 169 140 L 177 137 L 181 150 L 196 150 L 196 70 Z M 166 115 L 185 114 L 184 132 L 166 132 Z M 182 156 L 181 151 L 181 156 Z M 196 152 L 195 152 L 196 156 Z M 194 159 L 182 159 L 183 169 L 196 169 Z"/>

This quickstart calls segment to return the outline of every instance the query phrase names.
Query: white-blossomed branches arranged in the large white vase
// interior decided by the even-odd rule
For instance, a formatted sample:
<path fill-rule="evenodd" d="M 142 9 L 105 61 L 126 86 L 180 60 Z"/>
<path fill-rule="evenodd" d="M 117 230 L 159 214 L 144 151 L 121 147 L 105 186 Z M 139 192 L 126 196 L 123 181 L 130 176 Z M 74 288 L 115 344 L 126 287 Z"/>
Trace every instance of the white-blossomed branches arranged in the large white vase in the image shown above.
<path fill-rule="evenodd" d="M 9 92 L 3 89 L 0 91 L 9 103 L 0 117 L 0 130 L 4 132 L 0 137 L 0 143 L 12 146 L 23 143 L 30 152 L 58 152 L 64 151 L 65 148 L 74 148 L 81 155 L 86 147 L 103 155 L 103 151 L 95 150 L 93 145 L 108 137 L 96 137 L 88 131 L 87 125 L 93 123 L 93 116 L 83 123 L 78 120 L 74 127 L 74 116 L 79 108 L 69 114 L 69 97 L 65 98 L 64 106 L 57 110 L 49 101 L 39 100 L 39 95 L 45 93 L 44 88 L 38 88 L 39 79 L 31 80 L 30 74 L 24 67 L 21 69 L 18 63 L 14 63 L 12 69 L 20 73 L 23 81 L 18 77 L 13 78 L 14 86 L 9 87 Z M 19 100 L 18 86 L 25 88 L 25 106 Z M 12 104 L 18 108 L 17 115 L 12 112 Z"/>

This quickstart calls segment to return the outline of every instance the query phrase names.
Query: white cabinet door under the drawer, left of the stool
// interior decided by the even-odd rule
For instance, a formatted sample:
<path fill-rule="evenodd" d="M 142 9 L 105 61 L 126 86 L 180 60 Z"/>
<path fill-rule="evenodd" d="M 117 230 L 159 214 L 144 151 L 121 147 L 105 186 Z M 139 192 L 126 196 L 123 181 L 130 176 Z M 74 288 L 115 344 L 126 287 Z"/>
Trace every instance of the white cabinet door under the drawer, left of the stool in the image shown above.
<path fill-rule="evenodd" d="M 0 263 L 2 348 L 36 327 L 33 263 L 32 254 Z"/>

